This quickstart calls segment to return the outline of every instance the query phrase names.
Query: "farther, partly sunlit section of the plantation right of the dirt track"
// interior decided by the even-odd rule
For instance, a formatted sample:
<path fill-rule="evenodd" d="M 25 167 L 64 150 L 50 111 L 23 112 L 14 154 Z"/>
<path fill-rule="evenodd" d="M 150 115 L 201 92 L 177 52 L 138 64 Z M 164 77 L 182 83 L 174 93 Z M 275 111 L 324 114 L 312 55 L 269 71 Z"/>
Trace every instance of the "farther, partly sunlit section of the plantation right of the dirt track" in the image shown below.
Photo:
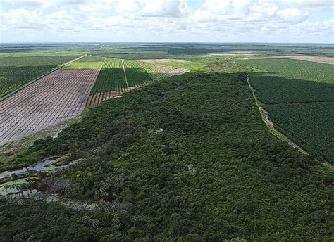
<path fill-rule="evenodd" d="M 240 61 L 260 70 L 249 77 L 263 103 L 334 101 L 333 65 L 288 59 Z"/>

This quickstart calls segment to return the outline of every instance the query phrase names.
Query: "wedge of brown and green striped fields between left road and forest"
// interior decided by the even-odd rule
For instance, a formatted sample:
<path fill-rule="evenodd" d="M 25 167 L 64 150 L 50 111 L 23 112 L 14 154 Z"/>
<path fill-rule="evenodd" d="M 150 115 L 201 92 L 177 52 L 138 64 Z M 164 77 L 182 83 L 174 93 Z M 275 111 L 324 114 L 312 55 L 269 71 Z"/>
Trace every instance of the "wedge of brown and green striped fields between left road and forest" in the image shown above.
<path fill-rule="evenodd" d="M 85 106 L 92 108 L 186 71 L 137 60 L 84 56 L 1 101 L 0 145 L 78 117 Z"/>

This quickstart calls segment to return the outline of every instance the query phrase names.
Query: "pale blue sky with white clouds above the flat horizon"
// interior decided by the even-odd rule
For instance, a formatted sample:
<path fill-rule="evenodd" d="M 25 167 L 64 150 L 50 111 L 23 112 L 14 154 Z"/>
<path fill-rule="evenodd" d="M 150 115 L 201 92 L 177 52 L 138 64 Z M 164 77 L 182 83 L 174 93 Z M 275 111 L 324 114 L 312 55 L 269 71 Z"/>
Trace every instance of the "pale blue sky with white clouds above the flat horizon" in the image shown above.
<path fill-rule="evenodd" d="M 334 0 L 1 0 L 0 42 L 334 43 Z"/>

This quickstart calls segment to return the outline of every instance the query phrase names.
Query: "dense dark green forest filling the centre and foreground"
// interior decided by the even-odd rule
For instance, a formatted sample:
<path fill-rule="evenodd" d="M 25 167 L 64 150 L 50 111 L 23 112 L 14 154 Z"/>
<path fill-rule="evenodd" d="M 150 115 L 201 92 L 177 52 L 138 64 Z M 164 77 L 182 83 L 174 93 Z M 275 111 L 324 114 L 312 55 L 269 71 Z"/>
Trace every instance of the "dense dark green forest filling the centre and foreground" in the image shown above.
<path fill-rule="evenodd" d="M 236 69 L 235 69 L 236 70 Z M 0 241 L 331 241 L 333 172 L 272 136 L 245 72 L 188 73 L 104 101 L 13 162 L 83 158 L 0 201 Z"/>

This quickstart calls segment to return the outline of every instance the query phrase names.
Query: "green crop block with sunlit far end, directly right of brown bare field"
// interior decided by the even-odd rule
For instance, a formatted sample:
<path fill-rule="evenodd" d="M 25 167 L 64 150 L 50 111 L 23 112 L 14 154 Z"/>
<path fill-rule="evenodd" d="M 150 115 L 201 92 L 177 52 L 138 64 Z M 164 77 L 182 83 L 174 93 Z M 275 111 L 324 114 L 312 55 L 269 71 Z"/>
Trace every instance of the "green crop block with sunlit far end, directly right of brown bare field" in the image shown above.
<path fill-rule="evenodd" d="M 122 60 L 106 58 L 91 94 L 111 91 L 117 87 L 126 87 Z"/>

